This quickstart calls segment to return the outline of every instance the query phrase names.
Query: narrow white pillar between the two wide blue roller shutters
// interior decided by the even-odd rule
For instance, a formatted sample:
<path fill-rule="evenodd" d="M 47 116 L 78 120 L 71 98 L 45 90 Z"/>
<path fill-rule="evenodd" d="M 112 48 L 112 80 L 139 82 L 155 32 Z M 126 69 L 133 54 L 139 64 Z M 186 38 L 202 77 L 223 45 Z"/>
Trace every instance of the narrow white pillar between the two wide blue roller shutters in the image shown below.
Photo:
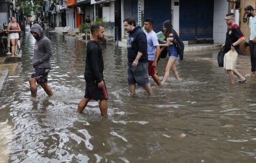
<path fill-rule="evenodd" d="M 172 24 L 173 29 L 179 34 L 180 29 L 180 5 L 174 6 L 174 2 L 180 2 L 180 0 L 172 1 Z"/>

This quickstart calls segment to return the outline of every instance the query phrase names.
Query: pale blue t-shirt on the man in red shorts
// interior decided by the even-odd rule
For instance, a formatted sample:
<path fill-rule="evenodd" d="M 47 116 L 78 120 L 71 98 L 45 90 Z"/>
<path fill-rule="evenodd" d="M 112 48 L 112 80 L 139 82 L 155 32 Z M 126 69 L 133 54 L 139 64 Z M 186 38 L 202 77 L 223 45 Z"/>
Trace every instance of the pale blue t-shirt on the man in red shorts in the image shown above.
<path fill-rule="evenodd" d="M 159 45 L 157 40 L 157 35 L 154 31 L 150 31 L 150 33 L 147 33 L 147 42 L 148 42 L 148 60 L 154 61 L 156 56 L 156 46 Z"/>

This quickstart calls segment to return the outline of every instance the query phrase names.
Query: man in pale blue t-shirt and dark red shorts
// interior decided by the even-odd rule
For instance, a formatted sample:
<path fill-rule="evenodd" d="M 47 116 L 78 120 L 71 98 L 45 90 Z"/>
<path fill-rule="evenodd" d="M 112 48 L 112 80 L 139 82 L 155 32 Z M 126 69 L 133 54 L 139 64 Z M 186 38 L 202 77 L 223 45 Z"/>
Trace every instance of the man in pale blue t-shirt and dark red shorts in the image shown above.
<path fill-rule="evenodd" d="M 157 75 L 157 59 L 160 54 L 160 47 L 157 39 L 156 33 L 153 31 L 153 23 L 154 20 L 147 18 L 144 19 L 144 27 L 147 35 L 147 43 L 148 43 L 148 75 L 150 75 L 158 86 L 161 86 L 161 81 Z"/>

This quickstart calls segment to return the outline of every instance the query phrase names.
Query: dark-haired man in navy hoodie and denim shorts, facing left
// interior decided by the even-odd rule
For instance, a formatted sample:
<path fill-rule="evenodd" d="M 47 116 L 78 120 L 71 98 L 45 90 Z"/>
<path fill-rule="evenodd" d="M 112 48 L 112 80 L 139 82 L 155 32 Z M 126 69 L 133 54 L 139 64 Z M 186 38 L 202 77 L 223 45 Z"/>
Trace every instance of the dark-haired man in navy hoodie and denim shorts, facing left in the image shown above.
<path fill-rule="evenodd" d="M 127 39 L 127 81 L 131 96 L 135 95 L 136 83 L 143 86 L 148 95 L 153 95 L 148 80 L 147 36 L 131 17 L 124 19 L 124 29 L 129 33 Z"/>

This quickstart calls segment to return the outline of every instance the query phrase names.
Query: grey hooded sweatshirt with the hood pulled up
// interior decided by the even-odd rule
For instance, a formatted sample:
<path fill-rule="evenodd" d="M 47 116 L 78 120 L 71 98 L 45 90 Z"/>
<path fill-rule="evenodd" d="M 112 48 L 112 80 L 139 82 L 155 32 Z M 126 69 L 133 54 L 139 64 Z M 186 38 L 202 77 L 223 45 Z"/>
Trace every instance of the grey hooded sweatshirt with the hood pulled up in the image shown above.
<path fill-rule="evenodd" d="M 44 35 L 44 31 L 39 24 L 33 24 L 31 32 L 38 33 L 34 47 L 32 65 L 34 68 L 51 68 L 52 44 L 51 40 Z"/>

